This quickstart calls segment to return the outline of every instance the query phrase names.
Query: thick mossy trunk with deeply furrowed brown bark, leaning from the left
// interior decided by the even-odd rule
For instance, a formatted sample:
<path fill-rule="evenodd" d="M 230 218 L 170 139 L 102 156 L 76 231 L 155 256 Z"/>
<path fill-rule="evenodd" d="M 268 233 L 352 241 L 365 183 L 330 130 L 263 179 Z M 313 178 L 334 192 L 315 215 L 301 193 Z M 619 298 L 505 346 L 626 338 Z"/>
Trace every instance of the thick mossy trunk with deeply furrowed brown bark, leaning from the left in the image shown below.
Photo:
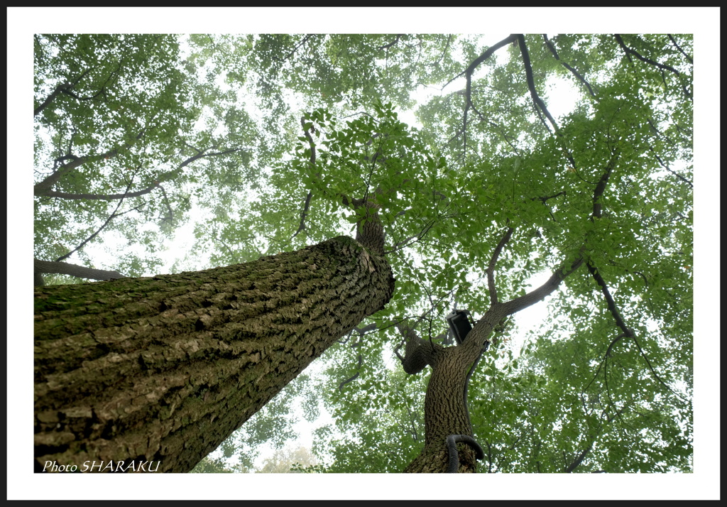
<path fill-rule="evenodd" d="M 392 294 L 385 258 L 345 236 L 226 268 L 38 288 L 36 470 L 189 471 Z"/>

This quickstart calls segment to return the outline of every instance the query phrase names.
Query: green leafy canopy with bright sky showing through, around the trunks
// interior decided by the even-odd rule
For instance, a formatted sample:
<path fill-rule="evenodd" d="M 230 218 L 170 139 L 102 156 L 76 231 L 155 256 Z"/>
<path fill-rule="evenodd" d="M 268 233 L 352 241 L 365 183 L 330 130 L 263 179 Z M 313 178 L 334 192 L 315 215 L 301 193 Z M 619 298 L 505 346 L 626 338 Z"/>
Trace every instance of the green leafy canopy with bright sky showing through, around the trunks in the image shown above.
<path fill-rule="evenodd" d="M 351 199 L 375 201 L 397 290 L 358 348 L 327 354 L 312 389 L 334 419 L 315 450 L 329 471 L 401 471 L 423 443 L 426 379 L 393 362 L 393 323 L 446 340 L 451 308 L 483 314 L 511 228 L 500 300 L 585 255 L 638 339 L 619 337 L 585 268 L 539 303 L 537 330 L 521 336 L 518 316 L 500 328 L 470 380 L 486 471 L 691 471 L 691 36 L 514 42 L 36 36 L 36 183 L 62 172 L 52 189 L 67 194 L 153 189 L 36 192 L 36 258 L 97 262 L 73 248 L 105 223 L 91 244 L 140 246 L 108 267 L 151 274 L 191 220 L 173 269 L 244 262 L 353 233 Z M 566 81 L 574 108 L 549 108 Z M 425 87 L 442 91 L 415 104 Z M 414 106 L 416 128 L 400 117 Z"/>

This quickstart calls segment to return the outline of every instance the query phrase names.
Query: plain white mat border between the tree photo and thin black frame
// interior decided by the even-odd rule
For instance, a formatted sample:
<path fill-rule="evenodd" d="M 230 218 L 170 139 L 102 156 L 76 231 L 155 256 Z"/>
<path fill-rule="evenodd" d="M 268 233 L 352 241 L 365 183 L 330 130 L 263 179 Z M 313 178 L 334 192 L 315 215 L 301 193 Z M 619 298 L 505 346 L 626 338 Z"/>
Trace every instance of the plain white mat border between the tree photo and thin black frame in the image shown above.
<path fill-rule="evenodd" d="M 48 8 L 7 9 L 8 47 L 8 492 L 7 498 L 244 499 L 717 499 L 720 497 L 719 117 L 717 8 Z M 212 475 L 31 473 L 33 33 L 694 33 L 694 474 L 463 478 L 397 474 Z M 27 185 L 27 186 L 26 186 Z M 20 188 L 28 188 L 28 197 Z M 10 220 L 12 217 L 12 220 Z M 18 248 L 20 247 L 20 248 Z M 25 252 L 25 253 L 23 253 Z M 709 252 L 709 255 L 705 255 Z M 22 266 L 25 266 L 23 268 Z M 12 289 L 12 291 L 11 291 Z M 27 292 L 25 292 L 27 291 Z M 23 295 L 24 294 L 24 295 Z M 12 389 L 10 389 L 12 386 Z M 715 402 L 716 400 L 716 402 Z M 457 486 L 460 487 L 457 487 Z M 111 493 L 113 492 L 113 493 Z"/>

